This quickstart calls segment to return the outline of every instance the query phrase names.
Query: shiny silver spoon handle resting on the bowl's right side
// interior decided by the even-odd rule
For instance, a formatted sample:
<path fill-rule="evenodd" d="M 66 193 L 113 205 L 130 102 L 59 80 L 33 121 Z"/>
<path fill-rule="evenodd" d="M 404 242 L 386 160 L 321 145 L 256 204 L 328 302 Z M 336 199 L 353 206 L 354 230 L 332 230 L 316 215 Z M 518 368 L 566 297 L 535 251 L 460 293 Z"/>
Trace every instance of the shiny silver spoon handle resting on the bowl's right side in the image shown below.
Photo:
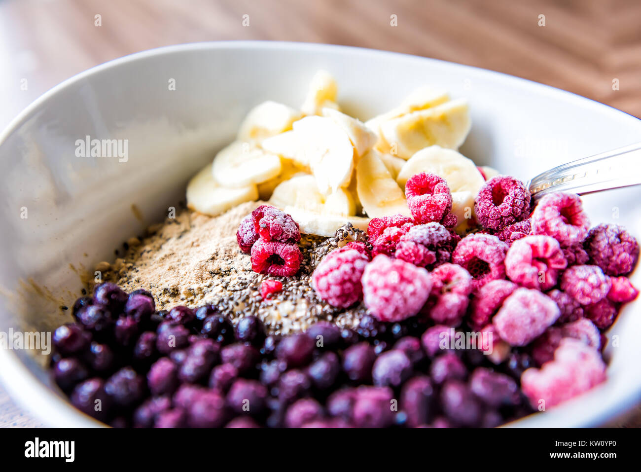
<path fill-rule="evenodd" d="M 641 142 L 581 158 L 538 174 L 529 181 L 532 197 L 551 192 L 583 195 L 641 184 Z"/>

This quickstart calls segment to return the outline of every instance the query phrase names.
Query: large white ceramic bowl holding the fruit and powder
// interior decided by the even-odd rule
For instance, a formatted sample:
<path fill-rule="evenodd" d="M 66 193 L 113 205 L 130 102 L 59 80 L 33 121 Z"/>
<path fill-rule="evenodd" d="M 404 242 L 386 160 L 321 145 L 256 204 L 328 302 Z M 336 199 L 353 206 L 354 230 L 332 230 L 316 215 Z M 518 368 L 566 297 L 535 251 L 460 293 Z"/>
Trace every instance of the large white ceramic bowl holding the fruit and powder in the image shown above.
<path fill-rule="evenodd" d="M 160 221 L 251 106 L 265 99 L 299 105 L 317 69 L 336 76 L 341 105 L 362 119 L 425 83 L 468 97 L 472 132 L 462 153 L 523 180 L 641 140 L 641 121 L 606 105 L 415 56 L 281 42 L 187 44 L 127 56 L 49 90 L 0 137 L 0 330 L 51 330 L 67 321 L 58 306 L 78 296 L 78 273 L 112 259 L 123 240 Z M 77 157 L 76 140 L 87 135 L 127 139 L 128 162 Z M 638 197 L 633 187 L 584 202 L 594 223 L 624 224 L 639 238 Z M 639 271 L 633 282 L 641 287 Z M 619 347 L 608 348 L 605 384 L 514 425 L 596 426 L 640 401 L 640 304 L 629 304 L 610 330 Z M 0 375 L 13 398 L 47 425 L 98 425 L 51 387 L 38 360 L 42 356 L 0 350 Z"/>

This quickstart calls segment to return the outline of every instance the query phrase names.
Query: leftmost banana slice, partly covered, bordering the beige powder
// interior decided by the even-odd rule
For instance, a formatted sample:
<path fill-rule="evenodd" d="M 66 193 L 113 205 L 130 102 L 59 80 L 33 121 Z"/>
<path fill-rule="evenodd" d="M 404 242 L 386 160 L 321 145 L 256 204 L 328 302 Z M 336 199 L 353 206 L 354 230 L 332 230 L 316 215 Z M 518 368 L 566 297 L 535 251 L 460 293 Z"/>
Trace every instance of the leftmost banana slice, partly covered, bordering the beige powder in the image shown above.
<path fill-rule="evenodd" d="M 256 185 L 228 189 L 213 180 L 212 164 L 206 165 L 187 184 L 187 207 L 217 216 L 246 201 L 258 198 Z"/>

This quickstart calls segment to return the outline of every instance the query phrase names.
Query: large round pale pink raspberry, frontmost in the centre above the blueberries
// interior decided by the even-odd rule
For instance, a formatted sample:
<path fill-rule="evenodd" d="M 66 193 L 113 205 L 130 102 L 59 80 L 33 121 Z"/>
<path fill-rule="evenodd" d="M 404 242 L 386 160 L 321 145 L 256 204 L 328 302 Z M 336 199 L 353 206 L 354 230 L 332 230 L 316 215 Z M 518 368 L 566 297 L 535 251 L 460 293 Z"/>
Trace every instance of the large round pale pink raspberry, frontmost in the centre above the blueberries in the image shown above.
<path fill-rule="evenodd" d="M 365 307 L 380 321 L 401 321 L 417 314 L 431 288 L 428 271 L 382 254 L 363 273 Z"/>

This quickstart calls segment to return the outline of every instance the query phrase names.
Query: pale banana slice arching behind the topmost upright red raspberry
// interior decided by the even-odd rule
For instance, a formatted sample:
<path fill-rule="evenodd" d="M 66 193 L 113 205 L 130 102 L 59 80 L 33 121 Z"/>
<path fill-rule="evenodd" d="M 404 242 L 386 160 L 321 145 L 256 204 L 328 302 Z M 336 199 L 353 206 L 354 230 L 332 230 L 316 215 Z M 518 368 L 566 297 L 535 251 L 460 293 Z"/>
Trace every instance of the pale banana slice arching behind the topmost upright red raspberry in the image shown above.
<path fill-rule="evenodd" d="M 440 146 L 422 149 L 408 160 L 396 181 L 405 188 L 408 179 L 414 174 L 427 172 L 437 174 L 447 181 L 451 192 L 467 191 L 476 197 L 485 180 L 471 159 Z"/>

